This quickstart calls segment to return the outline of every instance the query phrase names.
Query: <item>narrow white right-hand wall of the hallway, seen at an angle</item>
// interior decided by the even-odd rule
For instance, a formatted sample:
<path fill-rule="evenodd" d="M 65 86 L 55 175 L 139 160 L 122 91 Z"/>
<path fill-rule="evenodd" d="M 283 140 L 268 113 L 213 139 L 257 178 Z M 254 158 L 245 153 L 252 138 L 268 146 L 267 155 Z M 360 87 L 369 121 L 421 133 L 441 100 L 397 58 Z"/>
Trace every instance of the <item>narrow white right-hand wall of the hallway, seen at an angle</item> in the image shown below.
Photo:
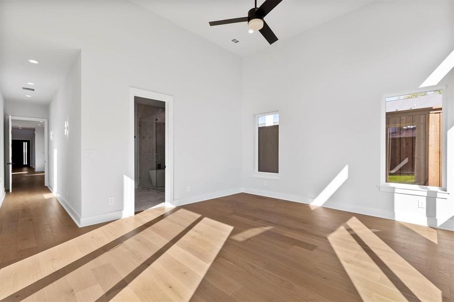
<path fill-rule="evenodd" d="M 80 221 L 81 203 L 81 56 L 49 104 L 49 187 L 69 214 Z M 70 124 L 64 133 L 64 122 Z M 52 131 L 52 140 L 50 140 Z M 38 143 L 36 139 L 36 143 Z M 43 142 L 44 144 L 44 142 Z M 44 146 L 43 146 L 44 148 Z"/>

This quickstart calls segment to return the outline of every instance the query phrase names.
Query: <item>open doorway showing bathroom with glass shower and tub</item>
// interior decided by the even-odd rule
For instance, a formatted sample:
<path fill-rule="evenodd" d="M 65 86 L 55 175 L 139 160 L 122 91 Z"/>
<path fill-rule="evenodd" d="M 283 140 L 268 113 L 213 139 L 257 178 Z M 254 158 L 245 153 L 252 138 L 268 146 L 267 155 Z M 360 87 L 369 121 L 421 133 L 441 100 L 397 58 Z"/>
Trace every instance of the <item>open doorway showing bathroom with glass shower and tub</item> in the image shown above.
<path fill-rule="evenodd" d="M 164 101 L 134 97 L 136 212 L 165 205 L 165 107 Z"/>

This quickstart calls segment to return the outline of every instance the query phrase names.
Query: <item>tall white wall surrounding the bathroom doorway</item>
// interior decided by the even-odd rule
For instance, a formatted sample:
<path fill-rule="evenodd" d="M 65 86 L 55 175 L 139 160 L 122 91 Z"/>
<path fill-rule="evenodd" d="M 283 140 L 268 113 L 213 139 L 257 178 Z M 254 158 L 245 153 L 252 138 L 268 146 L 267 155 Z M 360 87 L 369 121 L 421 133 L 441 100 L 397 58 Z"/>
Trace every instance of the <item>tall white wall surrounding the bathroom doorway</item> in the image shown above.
<path fill-rule="evenodd" d="M 73 17 L 83 17 L 87 27 L 82 149 L 96 150 L 90 166 L 82 167 L 83 216 L 121 210 L 123 175 L 134 179 L 128 167 L 134 157 L 127 144 L 129 87 L 174 97 L 174 204 L 237 191 L 241 60 L 131 3 L 94 2 Z"/>

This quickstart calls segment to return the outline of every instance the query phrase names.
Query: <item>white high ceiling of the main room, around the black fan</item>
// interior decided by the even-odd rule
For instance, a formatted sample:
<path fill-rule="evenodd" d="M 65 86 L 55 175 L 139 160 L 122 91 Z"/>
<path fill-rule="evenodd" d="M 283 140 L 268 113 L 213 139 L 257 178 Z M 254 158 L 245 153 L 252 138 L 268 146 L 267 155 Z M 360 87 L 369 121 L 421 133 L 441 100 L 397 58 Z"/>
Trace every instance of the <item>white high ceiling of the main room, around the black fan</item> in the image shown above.
<path fill-rule="evenodd" d="M 246 17 L 253 0 L 131 0 L 205 39 L 239 55 L 247 56 L 272 47 L 256 32 L 247 32 L 247 23 L 210 27 L 209 21 Z M 282 40 L 347 14 L 373 0 L 283 0 L 265 21 Z M 258 0 L 257 7 L 264 1 Z M 240 41 L 234 44 L 231 40 Z M 276 44 L 275 43 L 275 44 Z M 274 44 L 273 44 L 274 45 Z"/>

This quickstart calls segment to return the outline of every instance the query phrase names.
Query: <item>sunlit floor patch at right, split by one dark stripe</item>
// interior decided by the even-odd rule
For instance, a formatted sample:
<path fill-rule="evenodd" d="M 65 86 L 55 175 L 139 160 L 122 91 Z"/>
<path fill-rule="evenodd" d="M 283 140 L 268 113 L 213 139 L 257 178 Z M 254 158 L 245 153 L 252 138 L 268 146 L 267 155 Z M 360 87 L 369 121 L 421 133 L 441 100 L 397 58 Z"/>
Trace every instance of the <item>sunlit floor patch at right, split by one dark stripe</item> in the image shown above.
<path fill-rule="evenodd" d="M 328 240 L 364 301 L 408 298 L 438 302 L 441 290 L 356 217 Z"/>

